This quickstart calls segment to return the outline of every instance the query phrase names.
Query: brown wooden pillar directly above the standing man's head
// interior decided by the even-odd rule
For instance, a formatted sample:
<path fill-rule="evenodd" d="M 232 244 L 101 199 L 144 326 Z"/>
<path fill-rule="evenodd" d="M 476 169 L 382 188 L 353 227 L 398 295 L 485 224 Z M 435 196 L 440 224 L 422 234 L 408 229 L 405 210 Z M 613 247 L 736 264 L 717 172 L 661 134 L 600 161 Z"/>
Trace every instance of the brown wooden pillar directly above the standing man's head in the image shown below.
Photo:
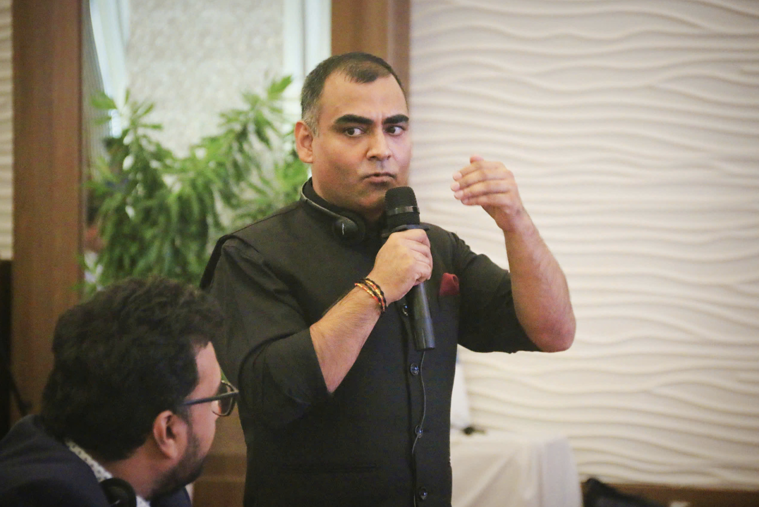
<path fill-rule="evenodd" d="M 411 0 L 332 0 L 332 55 L 364 51 L 384 58 L 409 90 Z"/>

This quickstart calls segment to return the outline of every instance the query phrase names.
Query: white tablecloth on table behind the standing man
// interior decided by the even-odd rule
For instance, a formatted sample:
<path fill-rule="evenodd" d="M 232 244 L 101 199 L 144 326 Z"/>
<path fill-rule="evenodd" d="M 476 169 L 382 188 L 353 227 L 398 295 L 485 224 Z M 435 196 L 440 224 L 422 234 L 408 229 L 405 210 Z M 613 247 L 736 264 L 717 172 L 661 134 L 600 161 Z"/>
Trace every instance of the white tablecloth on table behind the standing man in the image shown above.
<path fill-rule="evenodd" d="M 581 507 L 580 480 L 564 436 L 451 432 L 453 507 Z"/>

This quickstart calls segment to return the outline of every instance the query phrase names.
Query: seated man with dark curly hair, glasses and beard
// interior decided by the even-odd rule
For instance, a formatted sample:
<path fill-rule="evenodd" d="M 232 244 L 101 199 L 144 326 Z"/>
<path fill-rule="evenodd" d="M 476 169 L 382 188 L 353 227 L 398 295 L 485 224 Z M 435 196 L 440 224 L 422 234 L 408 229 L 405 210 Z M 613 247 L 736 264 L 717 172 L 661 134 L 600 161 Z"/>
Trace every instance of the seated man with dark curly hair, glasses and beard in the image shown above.
<path fill-rule="evenodd" d="M 189 507 L 184 486 L 235 402 L 211 342 L 223 329 L 206 294 L 167 279 L 63 313 L 42 414 L 0 442 L 0 505 Z"/>

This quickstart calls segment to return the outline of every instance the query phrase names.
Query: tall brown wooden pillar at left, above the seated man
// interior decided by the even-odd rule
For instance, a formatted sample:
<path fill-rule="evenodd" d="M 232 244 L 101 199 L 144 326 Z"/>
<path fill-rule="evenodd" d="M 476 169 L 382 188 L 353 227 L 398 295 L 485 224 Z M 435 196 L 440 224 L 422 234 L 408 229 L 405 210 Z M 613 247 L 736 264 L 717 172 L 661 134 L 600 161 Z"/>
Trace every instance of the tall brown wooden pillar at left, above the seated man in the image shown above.
<path fill-rule="evenodd" d="M 82 0 L 12 5 L 11 370 L 32 411 L 52 367 L 55 321 L 79 301 L 81 16 Z"/>

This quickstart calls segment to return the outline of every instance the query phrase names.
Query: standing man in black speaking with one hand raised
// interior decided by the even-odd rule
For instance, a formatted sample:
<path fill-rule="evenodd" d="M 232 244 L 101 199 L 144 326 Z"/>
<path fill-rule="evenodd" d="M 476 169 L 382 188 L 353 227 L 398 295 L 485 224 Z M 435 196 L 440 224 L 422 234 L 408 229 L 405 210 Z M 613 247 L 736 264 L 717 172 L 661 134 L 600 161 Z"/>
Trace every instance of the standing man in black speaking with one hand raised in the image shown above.
<path fill-rule="evenodd" d="M 565 350 L 565 277 L 512 173 L 478 156 L 453 197 L 493 217 L 510 273 L 434 225 L 389 234 L 386 192 L 408 182 L 411 134 L 381 58 L 323 61 L 301 107 L 303 197 L 222 238 L 202 282 L 230 322 L 215 345 L 241 392 L 246 505 L 450 505 L 456 345 Z M 414 340 L 408 293 L 423 282 L 433 348 Z"/>

